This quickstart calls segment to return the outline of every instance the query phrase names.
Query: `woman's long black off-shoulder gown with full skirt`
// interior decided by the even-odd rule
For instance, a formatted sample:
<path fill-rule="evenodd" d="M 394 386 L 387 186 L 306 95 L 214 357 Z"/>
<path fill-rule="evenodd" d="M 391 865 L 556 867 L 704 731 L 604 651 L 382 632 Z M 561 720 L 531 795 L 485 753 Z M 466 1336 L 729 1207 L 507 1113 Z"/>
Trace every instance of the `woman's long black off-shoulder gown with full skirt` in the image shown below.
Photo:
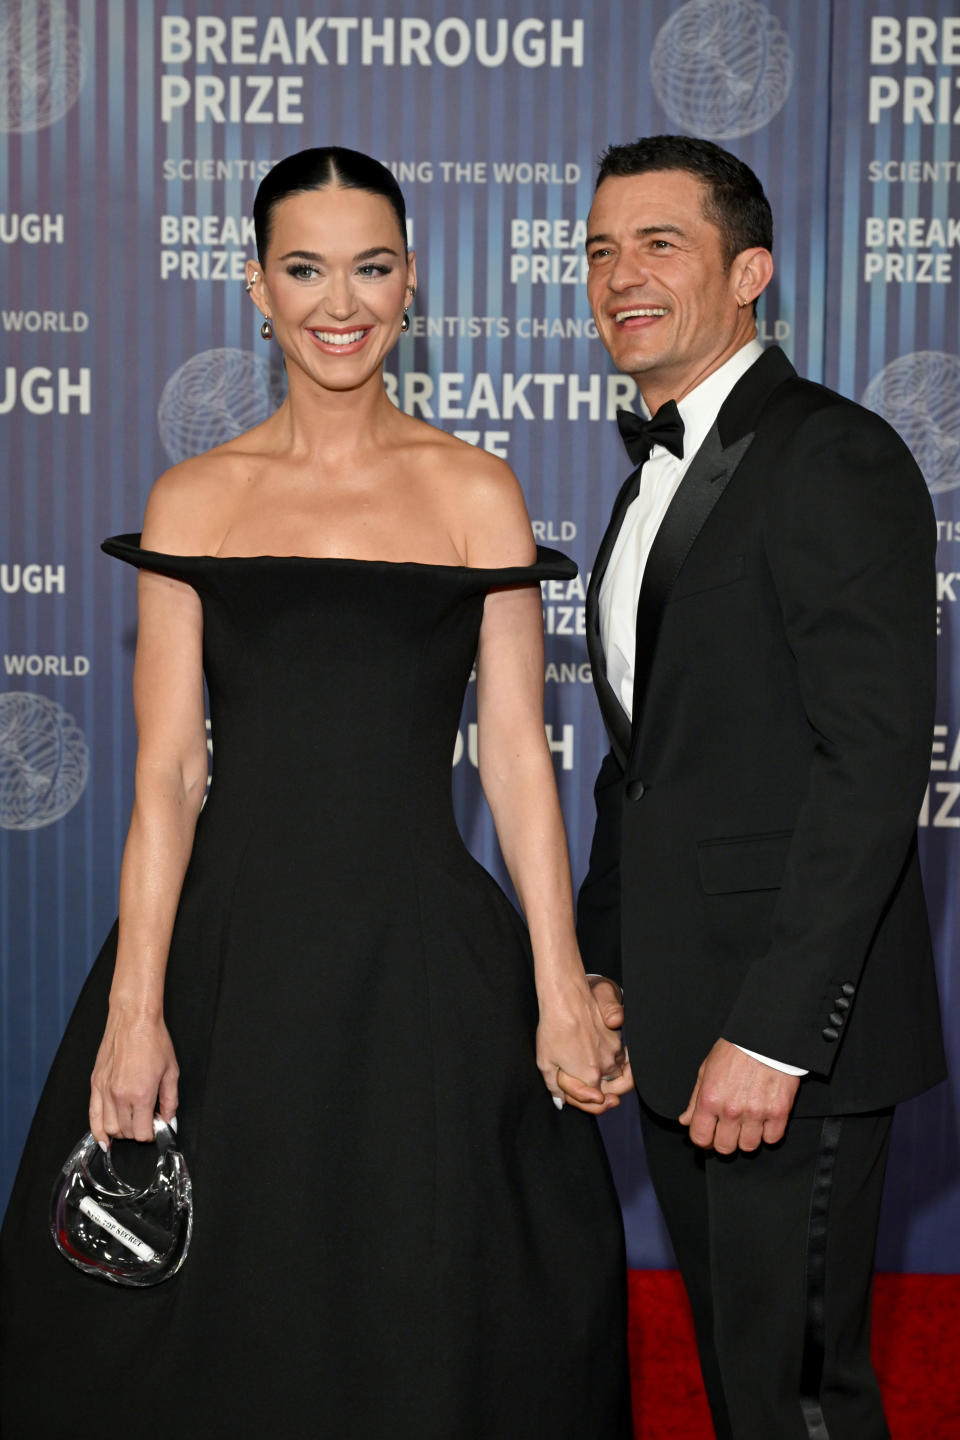
<path fill-rule="evenodd" d="M 104 549 L 200 595 L 216 740 L 166 981 L 194 1238 L 124 1290 L 47 1234 L 114 930 L 0 1238 L 0 1434 L 626 1440 L 603 1146 L 544 1089 L 527 933 L 450 804 L 486 590 L 574 567 L 137 541 Z"/>

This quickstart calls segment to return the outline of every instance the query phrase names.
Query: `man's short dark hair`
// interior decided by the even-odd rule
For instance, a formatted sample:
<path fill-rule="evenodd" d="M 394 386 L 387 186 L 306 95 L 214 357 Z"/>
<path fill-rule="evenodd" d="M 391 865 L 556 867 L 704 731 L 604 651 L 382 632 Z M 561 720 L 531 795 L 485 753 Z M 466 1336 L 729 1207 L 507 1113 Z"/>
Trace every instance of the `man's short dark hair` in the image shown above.
<path fill-rule="evenodd" d="M 685 170 L 705 186 L 704 216 L 720 230 L 725 268 L 756 245 L 773 249 L 770 202 L 750 166 L 728 150 L 692 135 L 645 135 L 610 145 L 600 157 L 597 189 L 612 177 L 651 170 Z"/>

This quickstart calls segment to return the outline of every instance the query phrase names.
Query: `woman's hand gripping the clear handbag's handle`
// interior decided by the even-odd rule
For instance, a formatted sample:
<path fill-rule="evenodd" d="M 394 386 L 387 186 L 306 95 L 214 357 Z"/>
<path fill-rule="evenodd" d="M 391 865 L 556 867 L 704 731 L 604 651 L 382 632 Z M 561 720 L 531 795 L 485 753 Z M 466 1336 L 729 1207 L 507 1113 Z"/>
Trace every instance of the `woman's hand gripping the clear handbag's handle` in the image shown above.
<path fill-rule="evenodd" d="M 91 1076 L 94 1139 L 153 1140 L 154 1115 L 177 1113 L 178 1079 L 163 1017 L 111 1009 Z"/>

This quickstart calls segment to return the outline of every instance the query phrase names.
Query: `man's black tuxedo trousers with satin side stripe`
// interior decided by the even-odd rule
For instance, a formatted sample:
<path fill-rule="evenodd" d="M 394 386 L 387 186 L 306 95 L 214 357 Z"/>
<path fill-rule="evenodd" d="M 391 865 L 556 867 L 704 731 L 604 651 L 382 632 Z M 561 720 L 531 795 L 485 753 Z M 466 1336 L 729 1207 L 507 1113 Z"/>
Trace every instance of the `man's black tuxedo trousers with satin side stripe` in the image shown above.
<path fill-rule="evenodd" d="M 869 1320 L 892 1113 L 723 1156 L 640 1100 L 718 1440 L 889 1440 Z"/>

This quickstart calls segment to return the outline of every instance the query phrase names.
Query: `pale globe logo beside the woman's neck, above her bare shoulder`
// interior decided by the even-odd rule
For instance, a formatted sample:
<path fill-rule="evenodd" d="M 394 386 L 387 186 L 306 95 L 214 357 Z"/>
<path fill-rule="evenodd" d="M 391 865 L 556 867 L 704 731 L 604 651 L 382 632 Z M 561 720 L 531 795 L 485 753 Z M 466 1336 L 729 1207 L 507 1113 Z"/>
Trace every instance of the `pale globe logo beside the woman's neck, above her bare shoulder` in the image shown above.
<path fill-rule="evenodd" d="M 167 380 L 157 428 L 170 459 L 187 459 L 259 425 L 284 399 L 286 377 L 249 350 L 201 350 Z"/>

